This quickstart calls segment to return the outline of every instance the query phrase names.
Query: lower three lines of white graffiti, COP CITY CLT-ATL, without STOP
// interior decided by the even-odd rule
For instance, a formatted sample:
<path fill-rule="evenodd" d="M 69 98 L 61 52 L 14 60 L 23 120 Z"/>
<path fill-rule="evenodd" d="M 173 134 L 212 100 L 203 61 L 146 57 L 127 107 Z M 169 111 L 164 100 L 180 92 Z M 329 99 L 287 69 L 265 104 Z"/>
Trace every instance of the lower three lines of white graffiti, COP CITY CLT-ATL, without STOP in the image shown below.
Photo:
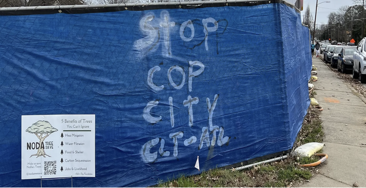
<path fill-rule="evenodd" d="M 188 78 L 194 78 L 194 77 L 196 77 L 196 76 L 203 73 L 203 70 L 204 70 L 204 67 L 205 67 L 203 65 L 203 63 L 198 62 L 198 61 L 189 61 L 189 65 L 190 65 L 190 67 L 188 67 Z M 191 68 L 191 67 L 193 67 L 193 66 L 199 66 L 199 69 L 196 70 L 196 71 L 192 71 L 193 68 Z M 169 79 L 169 73 L 171 72 L 171 70 L 174 70 L 177 66 L 172 66 L 172 67 L 169 68 L 168 74 L 167 74 L 169 83 L 171 85 L 173 85 L 173 81 L 171 79 Z M 147 75 L 147 83 L 152 83 L 151 85 L 149 84 L 149 86 L 152 89 L 155 88 L 155 90 L 158 91 L 158 90 L 160 90 L 160 88 L 158 88 L 155 84 L 153 84 L 153 80 L 152 80 L 154 70 L 160 70 L 160 67 L 155 66 L 155 67 L 150 69 L 150 71 Z M 182 70 L 182 71 L 180 71 L 180 70 Z M 177 90 L 180 90 L 180 89 L 182 89 L 182 87 L 184 85 L 185 74 L 184 74 L 183 69 L 178 69 L 178 72 L 183 75 L 182 82 L 180 83 L 179 86 L 173 85 L 173 88 L 175 88 Z M 191 91 L 192 82 L 188 85 L 189 85 L 188 87 L 190 88 L 190 91 Z M 180 86 L 182 86 L 182 87 L 180 87 Z M 205 146 L 207 148 L 210 148 L 210 145 L 213 147 L 213 146 L 216 145 L 216 143 L 217 143 L 217 145 L 222 146 L 224 144 L 228 144 L 228 142 L 229 142 L 229 137 L 224 136 L 224 128 L 213 125 L 212 118 L 213 118 L 214 110 L 215 110 L 215 107 L 217 105 L 218 99 L 219 99 L 219 94 L 214 95 L 212 103 L 211 103 L 210 98 L 206 98 L 209 127 L 205 126 L 205 127 L 202 128 L 202 134 L 201 134 L 201 136 L 199 136 L 198 149 L 202 149 Z M 199 100 L 198 97 L 191 97 L 191 95 L 188 95 L 187 99 L 185 99 L 181 103 L 184 107 L 187 107 L 187 109 L 188 109 L 188 126 L 189 127 L 193 127 L 193 125 L 194 125 L 193 107 L 199 101 L 200 100 Z M 174 124 L 175 124 L 174 123 L 173 97 L 169 97 L 168 102 L 169 102 L 170 121 L 171 121 L 171 126 L 173 128 Z M 161 115 L 154 114 L 155 116 L 157 115 L 158 117 L 153 117 L 150 114 L 150 110 L 153 107 L 158 107 L 158 103 L 159 103 L 158 100 L 154 100 L 154 101 L 150 101 L 146 104 L 146 107 L 143 109 L 143 115 L 142 115 L 143 118 L 145 119 L 145 121 L 147 121 L 149 123 L 152 123 L 152 124 L 156 124 L 156 123 L 161 121 L 161 119 L 162 119 Z M 219 132 L 218 137 L 217 137 L 217 132 Z M 212 139 L 210 139 L 210 133 L 212 135 Z M 169 138 L 172 139 L 172 142 L 174 144 L 173 156 L 176 157 L 176 158 L 178 158 L 178 150 L 179 150 L 179 144 L 178 143 L 179 143 L 180 138 L 183 138 L 183 137 L 185 137 L 185 136 L 184 136 L 184 133 L 181 132 L 181 131 L 169 134 Z M 184 146 L 194 144 L 197 141 L 196 136 L 188 135 L 188 137 L 189 138 L 186 138 L 183 142 Z M 165 140 L 161 139 L 161 138 L 154 138 L 153 140 L 150 140 L 150 141 L 146 142 L 142 146 L 141 157 L 142 157 L 142 160 L 144 162 L 154 162 L 154 161 L 157 160 L 157 158 L 158 158 L 157 151 L 150 151 L 150 149 L 153 146 L 157 145 L 159 142 L 160 142 L 160 148 L 159 148 L 160 157 L 170 156 L 169 151 L 164 151 Z"/>

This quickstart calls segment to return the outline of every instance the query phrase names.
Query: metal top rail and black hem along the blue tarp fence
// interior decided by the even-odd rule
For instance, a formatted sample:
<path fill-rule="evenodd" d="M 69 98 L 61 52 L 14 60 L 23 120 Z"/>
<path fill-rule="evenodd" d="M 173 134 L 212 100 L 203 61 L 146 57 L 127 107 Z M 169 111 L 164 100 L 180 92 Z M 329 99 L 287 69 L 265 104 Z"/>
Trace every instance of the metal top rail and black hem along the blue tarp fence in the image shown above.
<path fill-rule="evenodd" d="M 150 7 L 176 6 L 177 8 L 202 8 L 215 6 L 240 6 L 240 5 L 256 5 L 269 3 L 283 3 L 295 11 L 300 12 L 295 5 L 288 3 L 285 0 L 210 0 L 210 1 L 175 1 L 175 2 L 161 2 L 161 3 L 119 3 L 119 4 L 88 4 L 88 5 L 52 5 L 52 6 L 32 6 L 32 7 L 0 7 L 0 12 L 14 12 L 14 11 L 40 11 L 40 10 L 72 10 L 72 9 L 107 9 L 107 8 L 125 8 L 126 10 L 139 10 L 137 7 L 150 9 Z M 182 8 L 184 8 L 182 7 Z M 156 9 L 156 8 L 152 8 Z M 123 9 L 121 9 L 123 10 Z"/>

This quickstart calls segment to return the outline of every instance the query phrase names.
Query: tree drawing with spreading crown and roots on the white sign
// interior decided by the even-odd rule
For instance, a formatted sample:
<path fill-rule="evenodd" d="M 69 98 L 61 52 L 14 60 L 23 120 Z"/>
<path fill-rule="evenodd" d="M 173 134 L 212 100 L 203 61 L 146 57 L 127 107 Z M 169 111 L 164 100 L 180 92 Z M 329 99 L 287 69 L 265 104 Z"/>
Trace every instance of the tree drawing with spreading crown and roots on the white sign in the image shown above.
<path fill-rule="evenodd" d="M 40 147 L 38 148 L 38 151 L 36 154 L 31 155 L 32 156 L 43 156 L 43 157 L 51 157 L 48 154 L 45 153 L 44 147 L 41 147 L 42 142 L 47 138 L 51 133 L 56 132 L 57 129 L 53 128 L 52 125 L 48 121 L 37 121 L 36 123 L 32 124 L 26 132 L 33 133 L 37 136 L 38 139 L 40 139 Z M 46 136 L 42 137 L 43 134 L 46 134 Z M 30 158 L 29 157 L 29 158 Z"/>

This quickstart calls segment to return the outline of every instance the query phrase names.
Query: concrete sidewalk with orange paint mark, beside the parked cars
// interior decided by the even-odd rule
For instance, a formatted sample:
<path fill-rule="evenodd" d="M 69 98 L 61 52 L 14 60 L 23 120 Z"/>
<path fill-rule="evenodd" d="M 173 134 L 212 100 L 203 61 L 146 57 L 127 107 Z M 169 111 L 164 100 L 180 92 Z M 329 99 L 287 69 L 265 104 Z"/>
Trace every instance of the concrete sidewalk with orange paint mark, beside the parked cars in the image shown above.
<path fill-rule="evenodd" d="M 302 187 L 366 187 L 366 104 L 320 59 L 313 58 L 318 81 L 315 98 L 323 107 L 324 153 L 329 158 L 320 174 Z"/>

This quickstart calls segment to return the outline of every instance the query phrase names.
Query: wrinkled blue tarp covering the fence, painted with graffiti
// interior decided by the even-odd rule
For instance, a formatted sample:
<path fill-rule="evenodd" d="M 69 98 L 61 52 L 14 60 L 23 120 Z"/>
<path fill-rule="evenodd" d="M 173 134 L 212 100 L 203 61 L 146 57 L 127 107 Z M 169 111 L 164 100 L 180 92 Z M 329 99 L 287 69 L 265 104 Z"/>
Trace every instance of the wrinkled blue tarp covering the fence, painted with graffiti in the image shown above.
<path fill-rule="evenodd" d="M 291 149 L 310 104 L 309 29 L 285 4 L 0 20 L 4 187 L 41 186 L 21 180 L 21 115 L 96 114 L 96 177 L 72 186 L 143 187 Z"/>

